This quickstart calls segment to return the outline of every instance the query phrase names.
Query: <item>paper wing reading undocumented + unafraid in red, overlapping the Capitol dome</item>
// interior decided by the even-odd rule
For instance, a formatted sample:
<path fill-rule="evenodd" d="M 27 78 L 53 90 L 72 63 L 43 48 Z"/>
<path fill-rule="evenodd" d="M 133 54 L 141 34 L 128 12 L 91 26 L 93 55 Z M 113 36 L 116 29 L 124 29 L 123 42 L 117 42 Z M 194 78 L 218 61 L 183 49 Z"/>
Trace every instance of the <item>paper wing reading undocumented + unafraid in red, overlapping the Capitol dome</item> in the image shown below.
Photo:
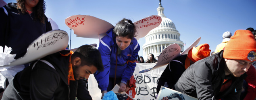
<path fill-rule="evenodd" d="M 134 22 L 133 24 L 137 26 L 137 36 L 135 37 L 137 40 L 139 38 L 142 38 L 148 34 L 148 32 L 157 26 L 159 26 L 162 22 L 162 18 L 158 15 L 152 15 L 146 18 L 143 18 L 137 22 Z"/>

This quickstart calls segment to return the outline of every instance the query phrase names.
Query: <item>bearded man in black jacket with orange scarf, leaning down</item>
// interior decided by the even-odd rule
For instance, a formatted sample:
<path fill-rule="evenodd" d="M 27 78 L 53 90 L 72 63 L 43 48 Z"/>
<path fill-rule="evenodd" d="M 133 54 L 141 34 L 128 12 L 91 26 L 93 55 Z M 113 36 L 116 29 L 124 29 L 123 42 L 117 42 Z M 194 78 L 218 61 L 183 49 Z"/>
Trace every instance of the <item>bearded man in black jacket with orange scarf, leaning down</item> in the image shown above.
<path fill-rule="evenodd" d="M 62 50 L 17 73 L 2 100 L 75 100 L 83 96 L 77 94 L 83 90 L 77 88 L 78 82 L 103 69 L 100 52 L 94 46 L 83 45 L 75 53 Z"/>

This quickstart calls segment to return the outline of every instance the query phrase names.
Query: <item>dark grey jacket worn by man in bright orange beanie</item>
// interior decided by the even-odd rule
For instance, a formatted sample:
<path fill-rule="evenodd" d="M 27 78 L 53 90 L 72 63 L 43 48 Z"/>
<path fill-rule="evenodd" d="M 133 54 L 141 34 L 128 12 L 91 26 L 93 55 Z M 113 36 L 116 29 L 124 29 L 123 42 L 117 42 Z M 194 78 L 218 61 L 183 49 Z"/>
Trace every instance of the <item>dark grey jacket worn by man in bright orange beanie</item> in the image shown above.
<path fill-rule="evenodd" d="M 224 67 L 219 66 L 225 64 L 225 60 L 221 55 L 223 55 L 223 51 L 189 66 L 189 68 L 185 70 L 178 82 L 175 84 L 175 90 L 183 91 L 183 93 L 198 98 L 198 100 L 206 100 L 212 98 L 213 96 L 216 99 L 227 99 L 225 97 L 226 95 L 237 94 L 235 92 L 236 88 L 237 92 L 241 92 L 241 90 L 238 90 L 238 88 L 240 88 L 242 85 L 243 79 L 247 76 L 246 74 L 243 74 L 239 78 L 232 78 L 232 76 L 225 77 L 225 79 L 232 78 L 232 82 L 239 84 L 233 84 L 227 88 L 225 92 L 220 92 L 224 81 L 224 77 L 222 76 L 225 76 Z M 239 98 L 239 96 L 237 94 L 232 98 Z M 235 100 L 232 98 L 229 97 L 229 100 Z"/>

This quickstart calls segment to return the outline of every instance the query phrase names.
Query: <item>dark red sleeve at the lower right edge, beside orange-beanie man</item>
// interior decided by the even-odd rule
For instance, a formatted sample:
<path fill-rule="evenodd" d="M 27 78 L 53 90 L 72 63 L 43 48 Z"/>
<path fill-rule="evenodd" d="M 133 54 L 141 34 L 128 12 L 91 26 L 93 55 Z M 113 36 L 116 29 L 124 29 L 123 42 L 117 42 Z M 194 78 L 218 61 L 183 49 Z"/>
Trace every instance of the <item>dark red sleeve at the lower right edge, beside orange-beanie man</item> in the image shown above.
<path fill-rule="evenodd" d="M 248 75 L 245 79 L 248 83 L 248 89 L 244 100 L 254 100 L 256 97 L 256 70 L 254 66 L 251 65 L 246 74 Z"/>

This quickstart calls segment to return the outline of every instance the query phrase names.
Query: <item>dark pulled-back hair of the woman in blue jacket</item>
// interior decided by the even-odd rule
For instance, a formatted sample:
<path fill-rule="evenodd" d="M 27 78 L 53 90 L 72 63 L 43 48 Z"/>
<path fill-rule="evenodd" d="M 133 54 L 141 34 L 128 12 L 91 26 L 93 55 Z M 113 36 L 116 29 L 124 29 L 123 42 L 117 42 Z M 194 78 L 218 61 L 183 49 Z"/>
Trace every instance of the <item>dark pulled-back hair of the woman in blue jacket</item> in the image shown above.
<path fill-rule="evenodd" d="M 123 18 L 123 20 L 119 21 L 114 27 L 115 36 L 126 37 L 132 39 L 136 37 L 136 26 L 129 19 Z"/>

